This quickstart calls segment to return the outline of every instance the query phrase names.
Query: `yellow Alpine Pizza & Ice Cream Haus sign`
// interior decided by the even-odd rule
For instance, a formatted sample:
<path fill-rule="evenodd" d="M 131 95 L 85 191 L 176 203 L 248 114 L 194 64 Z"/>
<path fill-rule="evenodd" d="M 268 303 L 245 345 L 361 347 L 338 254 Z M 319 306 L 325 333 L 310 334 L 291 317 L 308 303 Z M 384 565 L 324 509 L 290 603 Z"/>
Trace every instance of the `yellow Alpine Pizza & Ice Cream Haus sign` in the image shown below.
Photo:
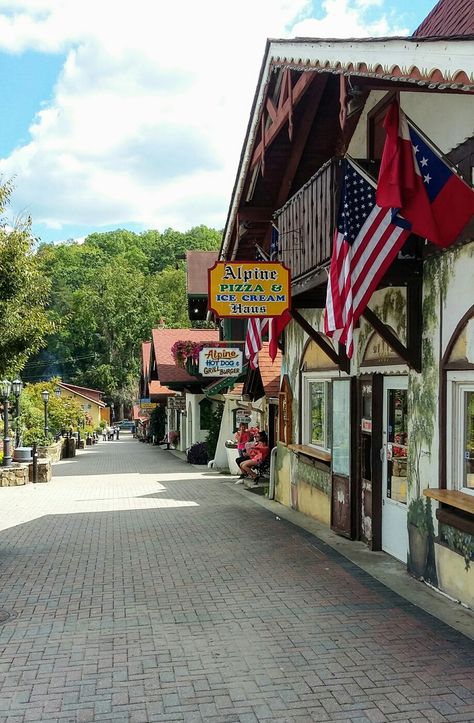
<path fill-rule="evenodd" d="M 219 317 L 281 316 L 291 306 L 290 270 L 274 261 L 218 261 L 209 269 L 209 309 Z"/>

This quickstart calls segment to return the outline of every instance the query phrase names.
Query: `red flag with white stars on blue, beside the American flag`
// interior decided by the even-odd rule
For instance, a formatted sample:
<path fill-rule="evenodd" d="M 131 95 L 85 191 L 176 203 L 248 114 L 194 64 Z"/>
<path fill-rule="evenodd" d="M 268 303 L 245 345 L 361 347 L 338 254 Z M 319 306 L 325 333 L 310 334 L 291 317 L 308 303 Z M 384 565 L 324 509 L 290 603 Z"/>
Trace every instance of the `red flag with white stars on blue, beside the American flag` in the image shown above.
<path fill-rule="evenodd" d="M 384 128 L 378 205 L 392 208 L 394 223 L 437 246 L 449 246 L 474 214 L 474 191 L 414 128 L 397 101 L 388 110 Z"/>

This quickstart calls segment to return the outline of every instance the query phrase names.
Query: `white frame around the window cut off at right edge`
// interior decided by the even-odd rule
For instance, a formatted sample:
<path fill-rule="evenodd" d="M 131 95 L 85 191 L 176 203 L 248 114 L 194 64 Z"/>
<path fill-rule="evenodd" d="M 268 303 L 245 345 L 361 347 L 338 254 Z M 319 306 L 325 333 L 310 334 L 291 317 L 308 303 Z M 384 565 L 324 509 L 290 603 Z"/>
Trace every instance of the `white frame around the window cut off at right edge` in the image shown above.
<path fill-rule="evenodd" d="M 463 393 L 474 392 L 474 371 L 447 372 L 446 395 L 446 484 L 450 490 L 474 495 L 474 490 L 462 485 L 463 449 Z"/>

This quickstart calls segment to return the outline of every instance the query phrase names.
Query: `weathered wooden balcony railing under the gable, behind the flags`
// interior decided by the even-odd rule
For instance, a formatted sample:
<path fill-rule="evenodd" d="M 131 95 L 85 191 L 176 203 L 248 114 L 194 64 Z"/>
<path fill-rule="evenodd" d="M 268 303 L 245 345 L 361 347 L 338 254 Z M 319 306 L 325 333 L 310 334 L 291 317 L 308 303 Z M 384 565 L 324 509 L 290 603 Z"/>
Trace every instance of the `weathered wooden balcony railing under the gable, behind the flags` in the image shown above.
<path fill-rule="evenodd" d="M 339 162 L 331 159 L 276 214 L 278 258 L 292 279 L 331 259 L 337 211 Z"/>

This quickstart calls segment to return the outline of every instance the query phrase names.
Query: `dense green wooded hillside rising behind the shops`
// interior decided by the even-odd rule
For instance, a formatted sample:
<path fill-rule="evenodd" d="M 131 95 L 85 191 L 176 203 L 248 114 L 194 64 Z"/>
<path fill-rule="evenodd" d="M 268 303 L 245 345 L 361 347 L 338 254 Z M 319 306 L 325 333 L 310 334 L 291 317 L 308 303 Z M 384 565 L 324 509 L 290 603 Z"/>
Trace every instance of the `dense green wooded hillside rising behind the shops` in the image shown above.
<path fill-rule="evenodd" d="M 83 244 L 43 244 L 37 261 L 51 282 L 56 322 L 26 378 L 54 375 L 101 389 L 119 403 L 135 396 L 141 343 L 158 325 L 186 328 L 185 252 L 217 250 L 221 233 L 94 233 Z"/>

